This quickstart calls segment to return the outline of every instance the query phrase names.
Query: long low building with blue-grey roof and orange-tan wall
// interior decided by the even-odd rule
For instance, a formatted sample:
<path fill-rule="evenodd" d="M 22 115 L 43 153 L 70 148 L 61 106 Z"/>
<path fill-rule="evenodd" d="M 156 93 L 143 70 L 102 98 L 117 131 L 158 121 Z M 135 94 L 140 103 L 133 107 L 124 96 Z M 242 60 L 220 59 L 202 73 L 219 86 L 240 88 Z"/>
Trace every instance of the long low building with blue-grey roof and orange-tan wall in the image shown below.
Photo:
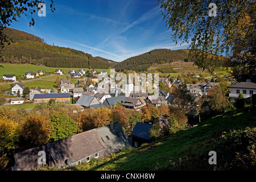
<path fill-rule="evenodd" d="M 34 103 L 49 102 L 49 100 L 55 100 L 55 102 L 70 103 L 70 93 L 46 93 L 46 94 L 35 94 Z"/>

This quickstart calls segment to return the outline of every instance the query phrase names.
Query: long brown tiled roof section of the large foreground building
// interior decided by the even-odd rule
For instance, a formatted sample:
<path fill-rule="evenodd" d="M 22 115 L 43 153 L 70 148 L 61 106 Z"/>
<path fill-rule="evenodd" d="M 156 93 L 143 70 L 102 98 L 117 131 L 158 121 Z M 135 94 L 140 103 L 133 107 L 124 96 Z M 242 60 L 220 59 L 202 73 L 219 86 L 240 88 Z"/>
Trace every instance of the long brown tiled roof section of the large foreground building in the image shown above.
<path fill-rule="evenodd" d="M 54 162 L 58 168 L 67 167 L 65 160 L 69 158 L 72 163 L 76 163 L 100 151 L 103 151 L 105 156 L 108 155 L 96 129 L 93 129 L 14 154 L 16 169 L 28 171 L 31 168 L 40 168 L 39 151 L 46 152 L 46 162 L 49 166 Z"/>

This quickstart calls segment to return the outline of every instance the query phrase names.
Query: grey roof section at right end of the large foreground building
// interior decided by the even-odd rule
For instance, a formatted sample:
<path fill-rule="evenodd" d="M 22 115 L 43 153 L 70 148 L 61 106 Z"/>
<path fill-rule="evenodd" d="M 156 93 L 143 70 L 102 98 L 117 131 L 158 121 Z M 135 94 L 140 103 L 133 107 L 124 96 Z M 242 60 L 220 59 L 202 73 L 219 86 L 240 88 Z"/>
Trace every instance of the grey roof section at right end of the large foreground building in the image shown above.
<path fill-rule="evenodd" d="M 119 123 L 112 123 L 110 125 L 96 129 L 109 153 L 119 152 L 123 147 L 131 147 L 131 144 L 128 142 L 128 137 Z M 106 138 L 106 136 L 108 136 L 108 138 Z"/>

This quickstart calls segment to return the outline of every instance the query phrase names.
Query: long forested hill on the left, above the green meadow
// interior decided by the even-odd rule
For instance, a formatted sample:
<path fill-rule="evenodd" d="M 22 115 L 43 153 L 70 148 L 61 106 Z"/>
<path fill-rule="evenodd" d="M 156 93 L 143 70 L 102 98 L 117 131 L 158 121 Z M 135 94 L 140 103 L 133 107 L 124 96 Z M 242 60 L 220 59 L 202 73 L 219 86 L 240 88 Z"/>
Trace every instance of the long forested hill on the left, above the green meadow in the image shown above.
<path fill-rule="evenodd" d="M 51 46 L 42 38 L 13 28 L 6 28 L 6 35 L 13 41 L 2 51 L 2 62 L 36 64 L 55 68 L 109 69 L 112 63 L 72 48 Z"/>

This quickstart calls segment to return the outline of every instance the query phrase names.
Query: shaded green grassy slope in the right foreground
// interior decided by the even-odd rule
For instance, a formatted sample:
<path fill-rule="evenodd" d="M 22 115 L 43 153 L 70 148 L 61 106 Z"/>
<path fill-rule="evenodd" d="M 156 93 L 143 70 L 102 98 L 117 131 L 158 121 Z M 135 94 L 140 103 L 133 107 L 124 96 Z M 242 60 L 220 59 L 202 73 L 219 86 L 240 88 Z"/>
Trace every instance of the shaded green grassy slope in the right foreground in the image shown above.
<path fill-rule="evenodd" d="M 110 158 L 82 163 L 71 170 L 212 170 L 214 166 L 208 163 L 208 153 L 213 150 L 213 138 L 220 137 L 223 131 L 256 127 L 255 121 L 256 111 L 248 112 L 248 107 L 229 110 L 192 129 L 179 131 L 146 146 L 122 150 Z M 191 162 L 194 159 L 197 163 Z"/>

